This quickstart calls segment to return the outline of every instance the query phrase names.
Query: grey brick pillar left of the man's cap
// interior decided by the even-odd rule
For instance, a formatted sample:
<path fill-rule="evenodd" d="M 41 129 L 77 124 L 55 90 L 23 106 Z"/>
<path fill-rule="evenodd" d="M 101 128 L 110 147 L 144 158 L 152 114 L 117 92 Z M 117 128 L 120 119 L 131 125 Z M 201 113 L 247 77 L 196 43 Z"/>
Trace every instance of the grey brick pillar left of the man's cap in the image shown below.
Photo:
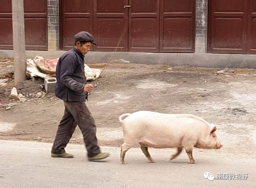
<path fill-rule="evenodd" d="M 48 50 L 59 50 L 59 0 L 48 0 Z"/>

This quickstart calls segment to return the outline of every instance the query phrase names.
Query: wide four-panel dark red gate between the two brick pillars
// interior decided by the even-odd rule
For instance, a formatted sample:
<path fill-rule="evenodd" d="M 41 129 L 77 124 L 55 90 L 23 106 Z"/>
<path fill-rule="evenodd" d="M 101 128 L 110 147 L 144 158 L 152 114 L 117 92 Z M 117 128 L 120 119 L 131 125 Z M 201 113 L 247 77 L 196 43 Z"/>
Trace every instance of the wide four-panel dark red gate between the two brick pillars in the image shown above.
<path fill-rule="evenodd" d="M 117 51 L 194 52 L 195 2 L 62 0 L 62 49 L 70 49 L 74 34 L 85 30 L 95 37 L 95 51 L 114 51 L 119 43 Z"/>

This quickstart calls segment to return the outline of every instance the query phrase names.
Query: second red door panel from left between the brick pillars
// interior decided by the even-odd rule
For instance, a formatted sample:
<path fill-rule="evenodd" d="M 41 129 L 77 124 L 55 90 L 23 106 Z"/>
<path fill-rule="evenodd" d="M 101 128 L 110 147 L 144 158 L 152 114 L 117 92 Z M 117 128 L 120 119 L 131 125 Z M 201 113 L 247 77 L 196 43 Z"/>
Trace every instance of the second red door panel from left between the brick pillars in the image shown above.
<path fill-rule="evenodd" d="M 95 51 L 128 51 L 128 0 L 94 0 Z"/>

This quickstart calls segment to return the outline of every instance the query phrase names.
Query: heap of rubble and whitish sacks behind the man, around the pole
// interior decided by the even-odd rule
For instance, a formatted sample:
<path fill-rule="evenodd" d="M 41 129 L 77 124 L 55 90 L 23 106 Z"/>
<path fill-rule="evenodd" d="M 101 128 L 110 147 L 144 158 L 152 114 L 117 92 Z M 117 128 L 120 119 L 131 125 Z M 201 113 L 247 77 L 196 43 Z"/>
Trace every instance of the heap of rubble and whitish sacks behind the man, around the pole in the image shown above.
<path fill-rule="evenodd" d="M 46 95 L 44 80 L 56 79 L 55 70 L 57 59 L 48 60 L 40 56 L 26 61 L 27 80 L 21 83 L 14 82 L 13 58 L 0 59 L 0 107 L 7 110 L 17 105 L 19 102 L 39 99 Z M 86 80 L 94 81 L 99 78 L 100 69 L 91 69 L 84 66 Z M 15 92 L 15 89 L 16 92 Z M 10 95 L 11 93 L 11 95 Z M 51 96 L 51 94 L 49 94 Z M 13 100 L 16 100 L 13 103 Z"/>

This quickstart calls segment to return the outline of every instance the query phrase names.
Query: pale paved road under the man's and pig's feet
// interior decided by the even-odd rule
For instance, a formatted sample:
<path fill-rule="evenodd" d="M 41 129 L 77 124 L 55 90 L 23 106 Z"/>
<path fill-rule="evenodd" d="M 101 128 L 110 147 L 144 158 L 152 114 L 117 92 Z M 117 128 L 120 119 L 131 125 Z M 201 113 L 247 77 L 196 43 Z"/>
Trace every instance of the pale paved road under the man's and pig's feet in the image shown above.
<path fill-rule="evenodd" d="M 83 145 L 68 145 L 73 159 L 49 157 L 51 144 L 0 140 L 0 188 L 253 188 L 256 157 L 231 155 L 221 150 L 195 150 L 198 164 L 189 164 L 183 152 L 167 161 L 173 149 L 150 149 L 155 163 L 148 163 L 139 148 L 126 153 L 120 164 L 120 148 L 102 147 L 111 156 L 105 162 L 89 162 Z M 204 179 L 210 172 L 215 179 Z M 218 180 L 217 174 L 248 174 L 247 180 Z"/>

